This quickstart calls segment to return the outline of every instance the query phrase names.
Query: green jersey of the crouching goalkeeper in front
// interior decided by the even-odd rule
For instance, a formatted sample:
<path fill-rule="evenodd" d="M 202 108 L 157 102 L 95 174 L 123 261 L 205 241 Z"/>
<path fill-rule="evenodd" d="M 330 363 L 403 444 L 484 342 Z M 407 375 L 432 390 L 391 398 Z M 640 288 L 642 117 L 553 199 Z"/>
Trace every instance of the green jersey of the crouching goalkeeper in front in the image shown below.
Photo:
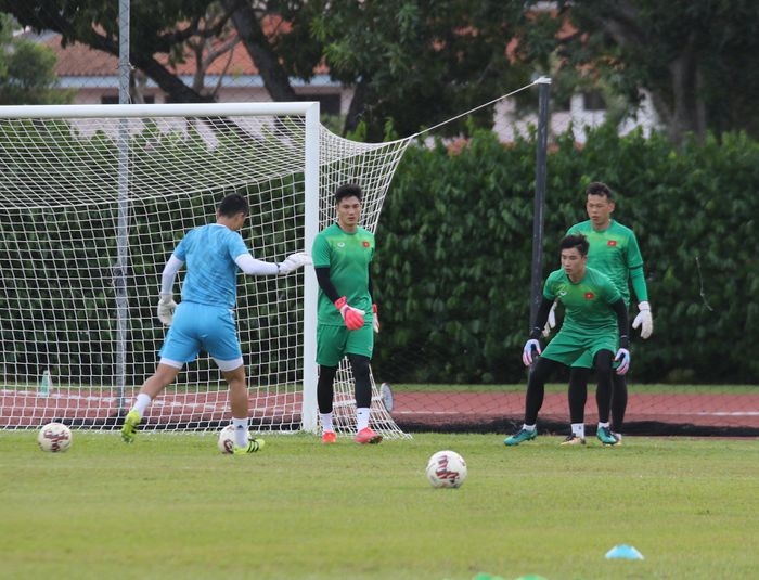
<path fill-rule="evenodd" d="M 610 305 L 621 295 L 608 276 L 593 268 L 586 268 L 586 275 L 577 283 L 564 270 L 554 270 L 545 280 L 543 296 L 564 305 L 562 333 L 590 338 L 618 331 L 617 314 Z"/>

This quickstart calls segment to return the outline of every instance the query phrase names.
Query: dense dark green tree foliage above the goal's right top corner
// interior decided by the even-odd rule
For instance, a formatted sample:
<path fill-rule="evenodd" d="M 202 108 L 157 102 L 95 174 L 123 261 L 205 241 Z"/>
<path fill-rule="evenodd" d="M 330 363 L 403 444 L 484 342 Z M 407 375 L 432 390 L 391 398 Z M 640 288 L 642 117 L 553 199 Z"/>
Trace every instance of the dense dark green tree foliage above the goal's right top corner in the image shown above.
<path fill-rule="evenodd" d="M 523 17 L 514 1 L 355 0 L 325 3 L 311 27 L 333 78 L 355 88 L 346 129 L 362 120 L 382 139 L 388 118 L 409 134 L 525 85 L 530 69 L 506 51 Z"/>

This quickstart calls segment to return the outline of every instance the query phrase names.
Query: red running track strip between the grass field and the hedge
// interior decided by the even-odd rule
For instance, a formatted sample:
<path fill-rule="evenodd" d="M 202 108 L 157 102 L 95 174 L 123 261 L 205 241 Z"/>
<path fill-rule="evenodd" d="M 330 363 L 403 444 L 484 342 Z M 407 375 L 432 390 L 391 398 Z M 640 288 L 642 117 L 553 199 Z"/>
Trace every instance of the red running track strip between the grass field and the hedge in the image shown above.
<path fill-rule="evenodd" d="M 253 394 L 253 391 L 252 391 Z M 131 401 L 132 395 L 129 395 Z M 53 418 L 102 422 L 116 412 L 113 392 L 82 395 L 60 389 L 49 397 L 35 391 L 0 390 L 0 428 L 38 426 Z M 393 417 L 400 425 L 428 426 L 430 430 L 455 425 L 487 425 L 493 422 L 522 422 L 524 392 L 396 392 Z M 266 423 L 299 422 L 299 394 L 250 398 L 252 416 Z M 545 395 L 540 421 L 568 423 L 565 392 Z M 229 420 L 226 391 L 203 394 L 167 392 L 150 408 L 146 422 L 192 423 Z M 597 421 L 591 394 L 586 405 L 586 424 Z M 658 422 L 713 427 L 759 429 L 759 389 L 750 394 L 636 394 L 630 391 L 626 423 Z"/>

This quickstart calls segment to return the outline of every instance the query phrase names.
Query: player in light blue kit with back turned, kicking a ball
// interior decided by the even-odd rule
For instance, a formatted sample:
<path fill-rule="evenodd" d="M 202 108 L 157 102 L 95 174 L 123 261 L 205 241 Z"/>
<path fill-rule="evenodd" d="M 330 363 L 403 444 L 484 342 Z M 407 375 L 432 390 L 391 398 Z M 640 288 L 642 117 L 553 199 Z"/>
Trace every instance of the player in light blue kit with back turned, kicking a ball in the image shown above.
<path fill-rule="evenodd" d="M 158 319 L 169 326 L 169 332 L 155 374 L 142 385 L 124 420 L 124 441 L 134 440 L 137 426 L 153 399 L 173 383 L 184 363 L 205 350 L 229 384 L 234 453 L 253 453 L 263 447 L 261 439 L 248 438 L 247 379 L 234 320 L 237 270 L 252 275 L 288 274 L 311 263 L 311 259 L 304 253 L 292 254 L 281 263 L 255 259 L 239 233 L 248 212 L 248 203 L 242 195 L 228 195 L 216 211 L 216 223 L 190 230 L 166 262 L 160 276 Z M 177 305 L 173 282 L 184 263 L 182 301 Z"/>

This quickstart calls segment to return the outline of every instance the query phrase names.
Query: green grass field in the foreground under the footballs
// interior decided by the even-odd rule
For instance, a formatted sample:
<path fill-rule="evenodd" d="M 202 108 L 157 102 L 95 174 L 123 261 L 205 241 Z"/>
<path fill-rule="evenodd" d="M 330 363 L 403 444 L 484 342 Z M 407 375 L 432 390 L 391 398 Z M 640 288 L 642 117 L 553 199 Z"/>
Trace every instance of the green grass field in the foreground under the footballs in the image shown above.
<path fill-rule="evenodd" d="M 0 431 L 1 578 L 709 579 L 759 576 L 759 441 L 416 434 L 322 446 L 75 431 L 65 454 Z M 460 489 L 426 460 L 454 449 Z M 607 560 L 617 544 L 644 560 Z"/>

